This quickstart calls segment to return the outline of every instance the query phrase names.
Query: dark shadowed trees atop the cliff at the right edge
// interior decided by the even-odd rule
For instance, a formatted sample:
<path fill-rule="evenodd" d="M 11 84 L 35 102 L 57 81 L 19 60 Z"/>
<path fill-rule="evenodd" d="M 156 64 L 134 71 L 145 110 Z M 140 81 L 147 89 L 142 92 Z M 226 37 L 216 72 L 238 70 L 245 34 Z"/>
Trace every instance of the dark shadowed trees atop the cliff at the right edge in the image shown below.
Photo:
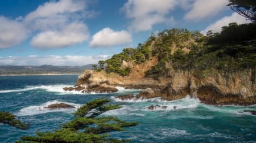
<path fill-rule="evenodd" d="M 218 68 L 236 71 L 254 68 L 256 65 L 256 23 L 230 23 L 222 31 L 210 38 L 207 53 L 216 53 Z"/>

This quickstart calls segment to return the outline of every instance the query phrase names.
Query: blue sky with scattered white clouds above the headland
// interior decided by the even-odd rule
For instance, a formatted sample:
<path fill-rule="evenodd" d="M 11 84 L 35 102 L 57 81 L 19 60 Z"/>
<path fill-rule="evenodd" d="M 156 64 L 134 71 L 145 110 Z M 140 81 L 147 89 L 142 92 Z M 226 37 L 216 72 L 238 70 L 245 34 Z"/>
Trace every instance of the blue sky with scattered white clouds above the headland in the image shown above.
<path fill-rule="evenodd" d="M 228 0 L 0 1 L 0 66 L 83 66 L 136 48 L 159 31 L 220 32 L 249 23 Z"/>

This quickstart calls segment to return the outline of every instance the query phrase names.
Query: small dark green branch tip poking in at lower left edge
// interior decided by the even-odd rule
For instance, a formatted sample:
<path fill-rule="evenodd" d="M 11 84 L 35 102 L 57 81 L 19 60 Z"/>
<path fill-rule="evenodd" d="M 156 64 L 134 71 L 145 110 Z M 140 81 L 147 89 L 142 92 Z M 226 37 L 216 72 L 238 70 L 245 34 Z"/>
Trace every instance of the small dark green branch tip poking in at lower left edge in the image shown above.
<path fill-rule="evenodd" d="M 27 129 L 30 127 L 30 124 L 21 123 L 19 119 L 16 119 L 16 116 L 7 111 L 0 112 L 0 123 L 9 124 L 13 127 L 19 129 Z"/>

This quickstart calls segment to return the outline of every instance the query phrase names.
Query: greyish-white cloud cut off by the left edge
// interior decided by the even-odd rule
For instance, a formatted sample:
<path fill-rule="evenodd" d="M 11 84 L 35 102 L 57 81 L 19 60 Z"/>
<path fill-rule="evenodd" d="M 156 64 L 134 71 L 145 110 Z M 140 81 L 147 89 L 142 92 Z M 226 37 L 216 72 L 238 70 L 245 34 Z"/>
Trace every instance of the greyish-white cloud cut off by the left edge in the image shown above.
<path fill-rule="evenodd" d="M 18 45 L 28 36 L 22 23 L 0 16 L 0 49 Z"/>

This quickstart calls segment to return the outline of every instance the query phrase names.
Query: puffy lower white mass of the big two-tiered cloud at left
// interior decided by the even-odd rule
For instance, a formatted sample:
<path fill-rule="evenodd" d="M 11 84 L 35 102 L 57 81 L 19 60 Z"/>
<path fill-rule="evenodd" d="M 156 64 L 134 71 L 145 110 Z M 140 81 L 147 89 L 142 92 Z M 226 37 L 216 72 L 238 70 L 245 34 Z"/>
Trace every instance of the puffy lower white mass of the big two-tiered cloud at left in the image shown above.
<path fill-rule="evenodd" d="M 60 31 L 43 31 L 36 34 L 30 44 L 41 48 L 65 47 L 81 43 L 88 38 L 89 32 L 86 25 L 71 23 Z"/>

